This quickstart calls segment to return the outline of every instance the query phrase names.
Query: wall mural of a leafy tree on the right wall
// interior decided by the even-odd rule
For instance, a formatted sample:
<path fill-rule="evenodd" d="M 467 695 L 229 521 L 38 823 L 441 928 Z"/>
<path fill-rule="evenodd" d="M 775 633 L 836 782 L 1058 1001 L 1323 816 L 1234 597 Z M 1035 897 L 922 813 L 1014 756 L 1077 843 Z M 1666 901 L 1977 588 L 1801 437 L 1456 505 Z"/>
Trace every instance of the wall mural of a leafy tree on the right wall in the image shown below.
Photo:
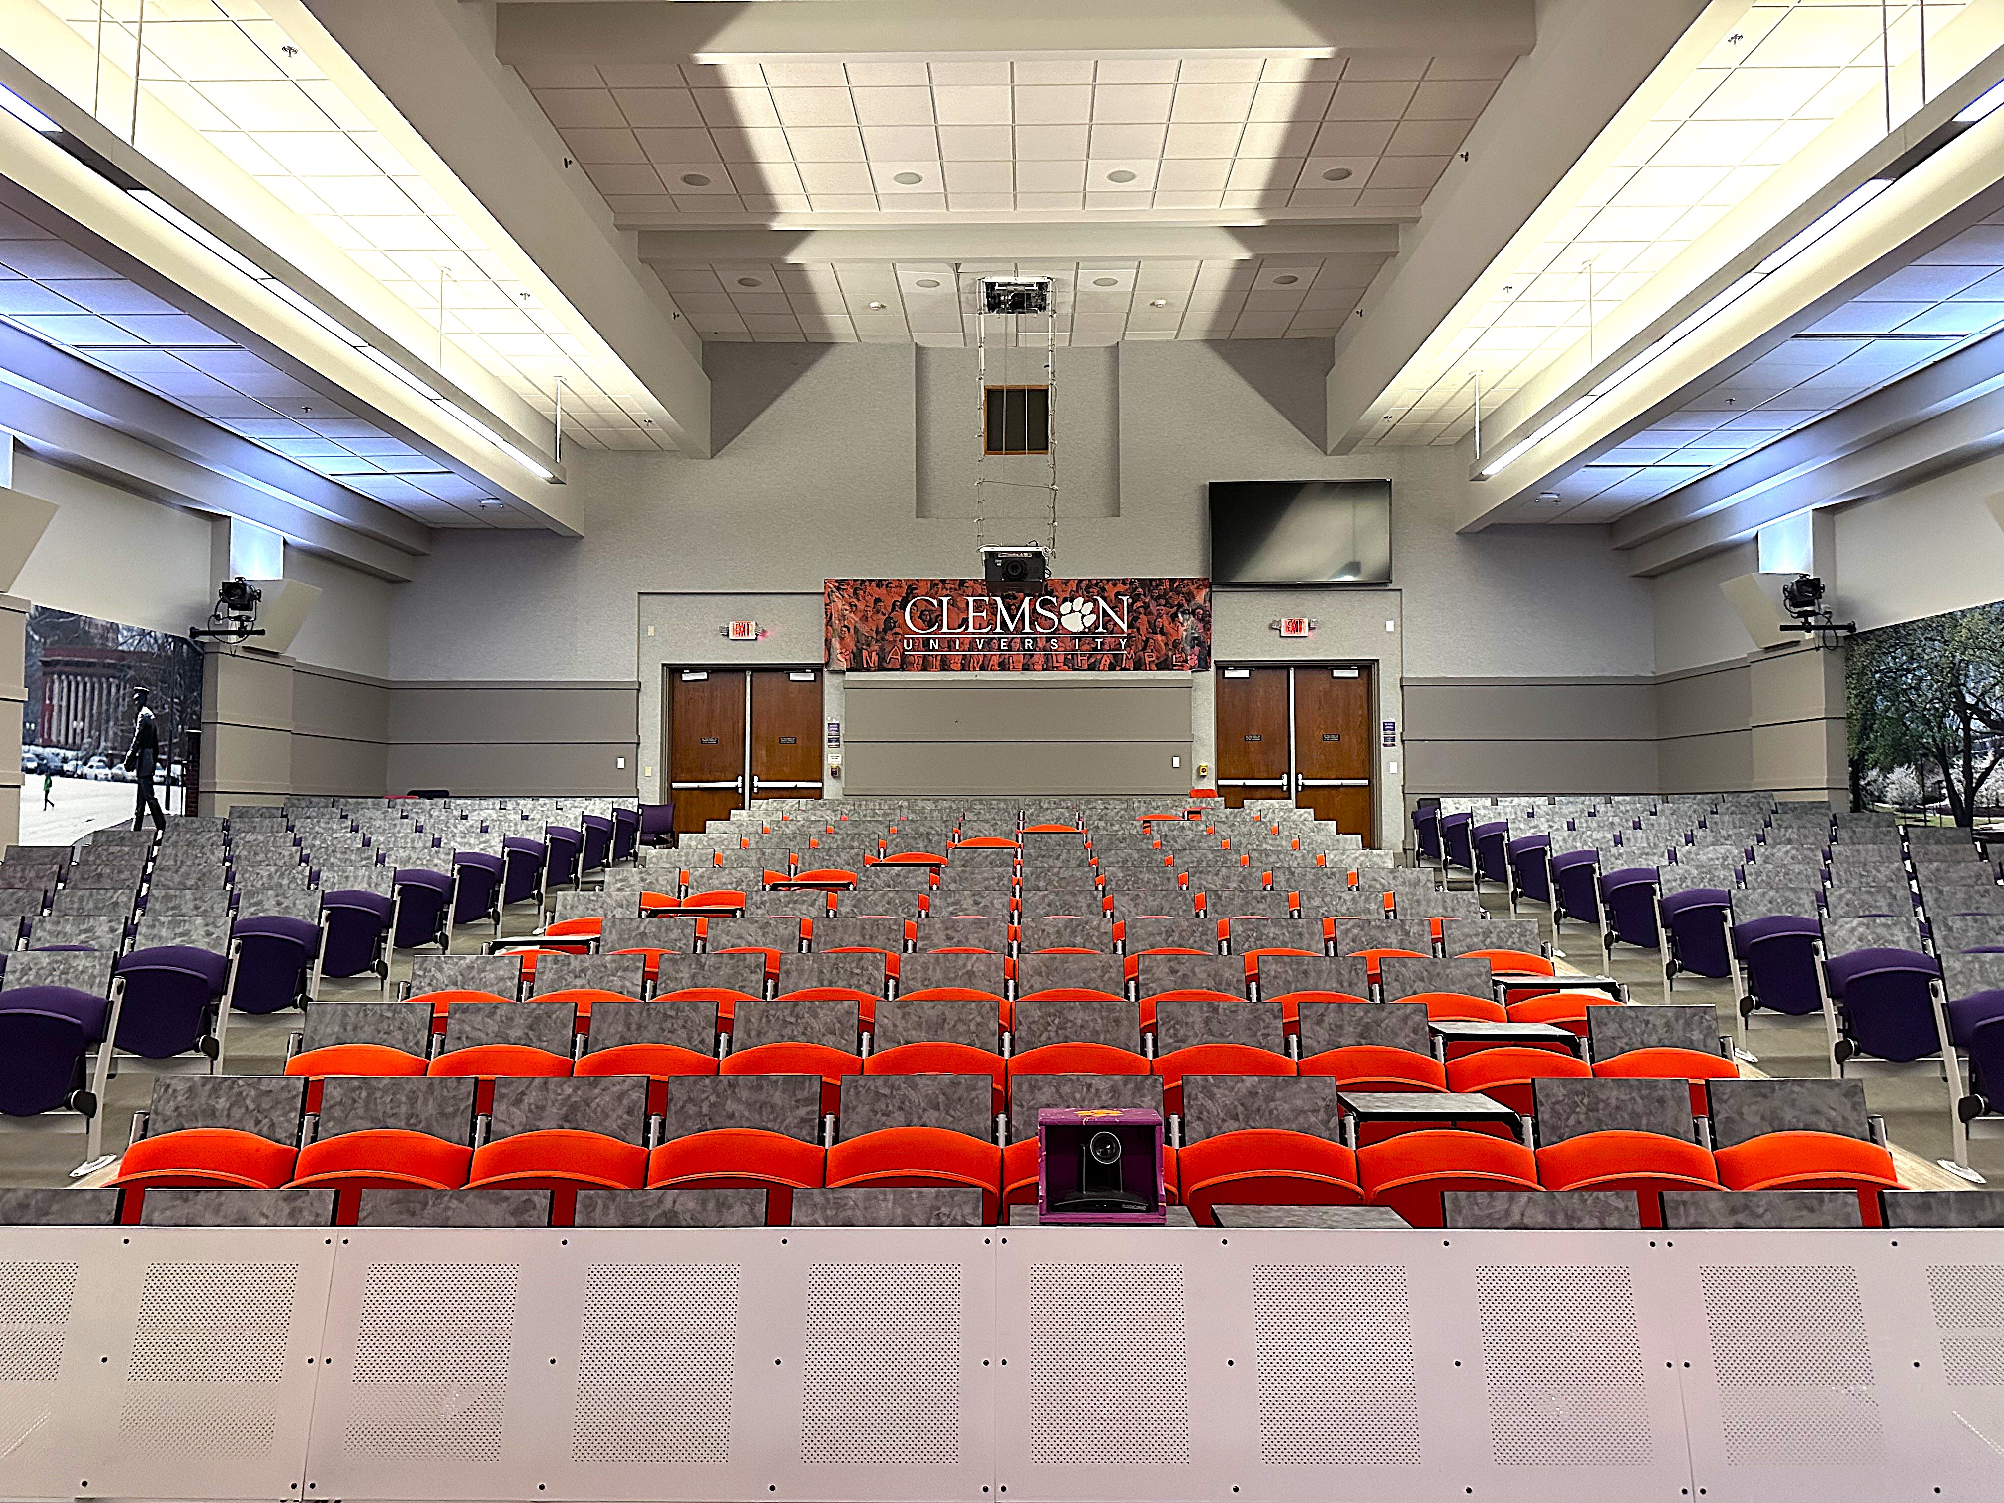
<path fill-rule="evenodd" d="M 1858 808 L 2004 814 L 2004 601 L 1860 631 L 1846 699 Z"/>

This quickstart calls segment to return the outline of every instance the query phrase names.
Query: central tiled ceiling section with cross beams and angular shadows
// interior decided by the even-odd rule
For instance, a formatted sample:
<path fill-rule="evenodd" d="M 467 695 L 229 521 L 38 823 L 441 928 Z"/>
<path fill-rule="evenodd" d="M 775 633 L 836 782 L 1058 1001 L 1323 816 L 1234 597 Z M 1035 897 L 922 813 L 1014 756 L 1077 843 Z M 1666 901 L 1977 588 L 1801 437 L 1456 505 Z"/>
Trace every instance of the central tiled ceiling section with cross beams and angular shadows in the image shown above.
<path fill-rule="evenodd" d="M 1529 6 L 1463 0 L 507 4 L 497 24 L 695 331 L 816 343 L 964 343 L 994 269 L 1064 285 L 1060 343 L 1327 339 L 1531 42 Z M 1084 273 L 1120 285 L 1086 277 L 1074 307 Z"/>

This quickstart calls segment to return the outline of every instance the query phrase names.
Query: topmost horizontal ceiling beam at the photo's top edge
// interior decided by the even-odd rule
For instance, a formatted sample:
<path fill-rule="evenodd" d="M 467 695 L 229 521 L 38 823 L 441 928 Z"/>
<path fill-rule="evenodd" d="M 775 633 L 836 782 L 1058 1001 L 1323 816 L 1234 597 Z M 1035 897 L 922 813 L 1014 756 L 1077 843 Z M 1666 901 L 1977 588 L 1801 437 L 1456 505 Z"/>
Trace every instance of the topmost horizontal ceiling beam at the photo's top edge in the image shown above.
<path fill-rule="evenodd" d="M 315 0 L 315 8 L 321 4 L 325 0 Z M 509 64 L 902 54 L 1521 54 L 1535 40 L 1531 0 L 1234 0 L 1228 6 L 1216 0 L 1012 0 L 998 6 L 964 0 L 627 0 L 501 4 L 497 28 L 501 60 Z"/>

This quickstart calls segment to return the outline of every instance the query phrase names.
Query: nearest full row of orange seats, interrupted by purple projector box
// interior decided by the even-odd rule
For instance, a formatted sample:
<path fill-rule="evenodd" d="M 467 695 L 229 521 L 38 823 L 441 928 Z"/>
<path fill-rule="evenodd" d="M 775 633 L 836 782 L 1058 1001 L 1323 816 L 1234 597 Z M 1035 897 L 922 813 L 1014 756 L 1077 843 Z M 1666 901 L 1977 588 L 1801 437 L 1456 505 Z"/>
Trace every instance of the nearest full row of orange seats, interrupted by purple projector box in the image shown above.
<path fill-rule="evenodd" d="M 329 1078 L 309 1110 L 287 1076 L 160 1078 L 116 1186 L 132 1218 L 150 1188 L 333 1188 L 353 1222 L 373 1190 L 537 1188 L 571 1224 L 579 1190 L 764 1188 L 786 1224 L 792 1192 L 970 1188 L 986 1220 L 1034 1200 L 1036 1112 L 1148 1110 L 1148 1076 L 1044 1076 L 992 1112 L 986 1076 L 846 1080 L 834 1114 L 816 1076 L 685 1076 L 649 1110 L 641 1078 L 477 1082 Z M 1164 1186 L 1206 1224 L 1218 1204 L 1377 1204 L 1439 1226 L 1449 1190 L 1621 1190 L 1659 1224 L 1663 1190 L 1898 1188 L 1854 1082 L 1713 1080 L 1693 1120 L 1673 1080 L 1555 1078 L 1533 1090 L 1523 1140 L 1419 1126 L 1355 1144 L 1333 1080 L 1188 1076 Z M 1369 1100 L 1365 1102 L 1369 1106 Z M 1435 1120 L 1453 1120 L 1435 1116 Z"/>

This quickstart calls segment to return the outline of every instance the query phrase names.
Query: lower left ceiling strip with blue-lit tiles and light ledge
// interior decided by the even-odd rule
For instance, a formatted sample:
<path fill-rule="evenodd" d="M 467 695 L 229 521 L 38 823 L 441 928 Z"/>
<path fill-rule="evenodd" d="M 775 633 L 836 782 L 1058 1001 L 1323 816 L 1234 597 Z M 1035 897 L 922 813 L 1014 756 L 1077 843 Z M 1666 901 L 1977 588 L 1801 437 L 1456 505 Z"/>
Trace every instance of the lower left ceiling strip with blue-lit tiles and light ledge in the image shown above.
<path fill-rule="evenodd" d="M 0 66 L 14 64 L 0 54 Z M 309 317 L 313 305 L 281 297 L 283 283 L 267 275 L 289 271 L 283 261 L 246 238 L 265 257 L 253 263 L 194 220 L 176 222 L 164 196 L 162 208 L 148 206 L 138 172 L 168 194 L 184 190 L 34 82 L 50 120 L 66 128 L 40 132 L 0 114 L 12 204 L 0 220 L 0 317 L 210 421 L 228 419 L 232 433 L 273 453 L 311 457 L 307 469 L 429 525 L 569 529 L 563 487 L 463 427 L 479 421 L 477 407 L 461 409 L 463 423 L 447 419 L 407 371 L 393 379 L 387 357 L 367 359 L 353 331 L 337 335 L 329 313 Z M 329 307 L 345 313 L 337 301 Z M 341 443 L 335 453 L 337 437 L 361 447 Z M 437 479 L 425 489 L 407 475 Z"/>

